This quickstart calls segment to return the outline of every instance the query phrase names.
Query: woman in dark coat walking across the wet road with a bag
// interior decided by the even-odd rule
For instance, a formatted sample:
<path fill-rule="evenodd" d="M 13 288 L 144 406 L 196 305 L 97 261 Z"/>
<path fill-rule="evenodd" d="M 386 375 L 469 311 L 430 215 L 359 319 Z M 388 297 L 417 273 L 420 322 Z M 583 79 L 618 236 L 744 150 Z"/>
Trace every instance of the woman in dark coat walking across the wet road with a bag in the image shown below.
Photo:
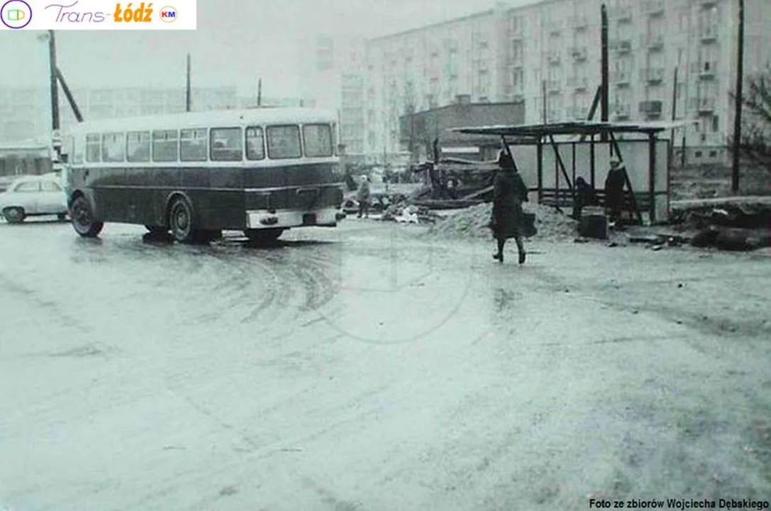
<path fill-rule="evenodd" d="M 522 264 L 525 262 L 525 248 L 522 243 L 525 218 L 522 203 L 527 202 L 527 186 L 507 152 L 500 152 L 498 165 L 500 171 L 494 181 L 493 218 L 490 222 L 493 238 L 498 242 L 498 252 L 493 254 L 493 259 L 503 262 L 503 246 L 506 245 L 507 239 L 513 238 L 517 242 Z"/>

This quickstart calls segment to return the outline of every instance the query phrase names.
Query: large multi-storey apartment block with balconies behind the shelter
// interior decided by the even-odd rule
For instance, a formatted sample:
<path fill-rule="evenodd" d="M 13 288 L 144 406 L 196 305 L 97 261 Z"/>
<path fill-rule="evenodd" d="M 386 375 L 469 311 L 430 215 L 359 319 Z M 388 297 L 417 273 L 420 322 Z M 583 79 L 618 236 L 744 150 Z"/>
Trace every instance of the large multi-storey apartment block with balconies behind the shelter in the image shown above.
<path fill-rule="evenodd" d="M 603 4 L 611 120 L 666 120 L 676 105 L 692 151 L 724 157 L 736 80 L 734 0 L 544 0 L 369 39 L 366 150 L 398 151 L 399 115 L 462 95 L 524 103 L 527 123 L 585 119 L 601 83 Z M 745 18 L 749 74 L 768 62 L 771 2 L 746 0 Z"/>

